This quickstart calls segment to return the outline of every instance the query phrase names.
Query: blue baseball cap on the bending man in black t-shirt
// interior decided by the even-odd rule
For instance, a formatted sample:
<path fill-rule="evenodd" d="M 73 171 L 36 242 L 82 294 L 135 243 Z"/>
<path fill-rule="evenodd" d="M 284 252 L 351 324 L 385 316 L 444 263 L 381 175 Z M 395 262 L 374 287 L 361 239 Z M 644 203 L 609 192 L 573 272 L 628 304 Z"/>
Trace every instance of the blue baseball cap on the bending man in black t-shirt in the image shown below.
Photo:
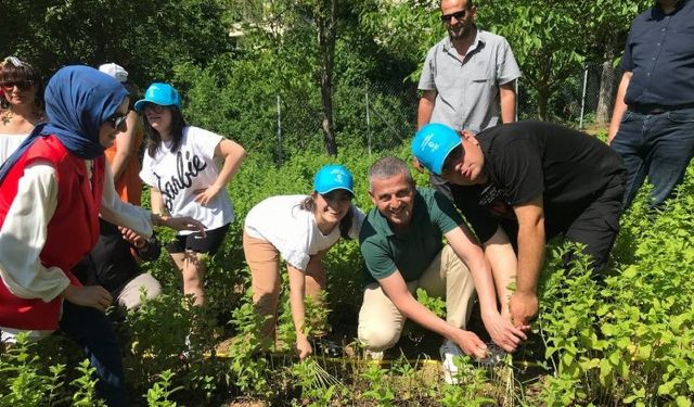
<path fill-rule="evenodd" d="M 429 171 L 441 175 L 446 157 L 462 143 L 460 135 L 439 123 L 422 127 L 412 140 L 412 154 Z"/>

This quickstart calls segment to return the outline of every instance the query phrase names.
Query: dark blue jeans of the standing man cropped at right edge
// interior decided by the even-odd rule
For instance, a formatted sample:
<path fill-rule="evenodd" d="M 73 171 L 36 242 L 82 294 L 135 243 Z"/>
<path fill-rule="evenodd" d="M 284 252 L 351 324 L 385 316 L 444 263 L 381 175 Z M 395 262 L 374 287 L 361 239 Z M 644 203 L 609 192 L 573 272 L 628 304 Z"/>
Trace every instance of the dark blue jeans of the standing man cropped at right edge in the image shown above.
<path fill-rule="evenodd" d="M 646 176 L 653 185 L 651 207 L 660 205 L 684 178 L 694 156 L 694 109 L 643 114 L 628 110 L 612 142 L 627 167 L 624 208 Z"/>

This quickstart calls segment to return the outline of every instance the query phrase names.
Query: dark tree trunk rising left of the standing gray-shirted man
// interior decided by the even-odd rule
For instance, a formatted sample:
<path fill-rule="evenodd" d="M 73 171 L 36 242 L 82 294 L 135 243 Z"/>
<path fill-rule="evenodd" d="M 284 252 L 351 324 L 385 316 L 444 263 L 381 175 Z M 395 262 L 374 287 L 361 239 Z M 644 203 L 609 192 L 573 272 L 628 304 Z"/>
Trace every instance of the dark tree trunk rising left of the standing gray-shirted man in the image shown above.
<path fill-rule="evenodd" d="M 323 141 L 330 155 L 337 155 L 337 143 L 333 126 L 333 65 L 335 61 L 335 1 L 319 0 L 314 9 L 318 50 L 320 54 L 321 102 L 323 105 Z"/>

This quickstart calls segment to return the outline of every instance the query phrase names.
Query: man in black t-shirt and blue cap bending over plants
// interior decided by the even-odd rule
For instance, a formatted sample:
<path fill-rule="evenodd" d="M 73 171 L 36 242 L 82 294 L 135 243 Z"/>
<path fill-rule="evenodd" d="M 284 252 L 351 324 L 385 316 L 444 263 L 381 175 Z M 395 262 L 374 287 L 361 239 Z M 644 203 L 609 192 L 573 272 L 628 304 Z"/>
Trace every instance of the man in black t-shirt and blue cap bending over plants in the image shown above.
<path fill-rule="evenodd" d="M 455 205 L 492 269 L 516 270 L 510 304 L 516 326 L 537 315 L 547 239 L 563 233 L 583 243 L 594 270 L 605 267 L 619 228 L 626 170 L 600 140 L 540 122 L 504 124 L 462 138 L 448 126 L 430 124 L 415 135 L 412 153 L 451 183 Z"/>

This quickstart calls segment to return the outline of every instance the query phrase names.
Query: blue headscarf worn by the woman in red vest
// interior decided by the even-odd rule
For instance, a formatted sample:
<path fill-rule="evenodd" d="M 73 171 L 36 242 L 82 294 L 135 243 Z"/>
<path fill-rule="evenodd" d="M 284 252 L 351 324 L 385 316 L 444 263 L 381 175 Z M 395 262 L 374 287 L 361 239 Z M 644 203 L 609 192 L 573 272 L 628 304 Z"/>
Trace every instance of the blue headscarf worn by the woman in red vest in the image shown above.
<path fill-rule="evenodd" d="M 73 154 L 93 160 L 104 153 L 99 128 L 112 117 L 128 96 L 119 81 L 89 66 L 66 66 L 46 87 L 49 122 L 38 125 L 0 167 L 0 182 L 10 168 L 39 137 L 55 137 Z"/>

